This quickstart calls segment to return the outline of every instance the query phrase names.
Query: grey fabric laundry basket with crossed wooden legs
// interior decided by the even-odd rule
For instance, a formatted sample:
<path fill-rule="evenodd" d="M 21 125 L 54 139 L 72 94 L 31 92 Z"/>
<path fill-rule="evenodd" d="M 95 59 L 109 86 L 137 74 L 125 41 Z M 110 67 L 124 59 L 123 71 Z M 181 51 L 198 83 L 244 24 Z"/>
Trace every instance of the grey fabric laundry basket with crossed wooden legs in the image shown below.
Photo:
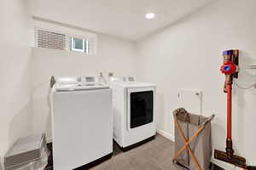
<path fill-rule="evenodd" d="M 173 111 L 175 120 L 175 156 L 172 161 L 181 170 L 207 170 L 212 156 L 210 117 L 190 114 L 183 108 Z"/>

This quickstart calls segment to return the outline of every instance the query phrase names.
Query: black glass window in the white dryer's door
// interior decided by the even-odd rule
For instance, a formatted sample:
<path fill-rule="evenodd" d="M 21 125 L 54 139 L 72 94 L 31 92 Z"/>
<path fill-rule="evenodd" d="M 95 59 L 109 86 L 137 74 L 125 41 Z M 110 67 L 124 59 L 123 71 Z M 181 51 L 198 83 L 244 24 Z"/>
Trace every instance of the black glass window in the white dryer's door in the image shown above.
<path fill-rule="evenodd" d="M 153 91 L 132 92 L 131 128 L 153 122 Z"/>

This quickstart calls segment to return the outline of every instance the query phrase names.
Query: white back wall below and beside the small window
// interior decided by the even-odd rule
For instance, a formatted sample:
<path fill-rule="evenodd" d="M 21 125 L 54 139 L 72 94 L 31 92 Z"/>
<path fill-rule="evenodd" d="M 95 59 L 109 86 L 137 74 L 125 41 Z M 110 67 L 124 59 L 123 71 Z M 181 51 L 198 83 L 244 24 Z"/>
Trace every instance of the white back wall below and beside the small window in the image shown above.
<path fill-rule="evenodd" d="M 51 139 L 47 105 L 49 78 L 54 76 L 136 76 L 135 43 L 102 34 L 97 36 L 97 54 L 79 54 L 55 49 L 33 48 L 32 56 L 32 130 L 46 131 Z"/>

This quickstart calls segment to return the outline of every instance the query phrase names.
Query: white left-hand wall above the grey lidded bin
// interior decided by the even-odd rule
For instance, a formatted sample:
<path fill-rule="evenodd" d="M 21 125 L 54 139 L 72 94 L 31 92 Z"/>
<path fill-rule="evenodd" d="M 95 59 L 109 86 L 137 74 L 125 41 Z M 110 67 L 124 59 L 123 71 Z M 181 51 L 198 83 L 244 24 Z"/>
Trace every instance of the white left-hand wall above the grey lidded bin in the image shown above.
<path fill-rule="evenodd" d="M 0 1 L 0 156 L 30 132 L 32 22 L 25 0 Z"/>

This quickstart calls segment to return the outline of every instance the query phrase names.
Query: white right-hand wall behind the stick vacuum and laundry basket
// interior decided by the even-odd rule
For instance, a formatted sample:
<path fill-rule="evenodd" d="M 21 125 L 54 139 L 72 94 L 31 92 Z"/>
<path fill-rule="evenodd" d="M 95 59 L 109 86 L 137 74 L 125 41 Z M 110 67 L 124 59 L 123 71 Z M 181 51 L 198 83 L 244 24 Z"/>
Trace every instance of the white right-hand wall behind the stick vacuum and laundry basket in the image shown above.
<path fill-rule="evenodd" d="M 222 51 L 241 50 L 238 82 L 248 86 L 256 77 L 246 67 L 256 63 L 256 1 L 216 1 L 174 25 L 137 42 L 139 80 L 157 85 L 157 127 L 174 134 L 172 111 L 177 109 L 180 88 L 203 91 L 203 115 L 216 114 L 212 124 L 213 149 L 224 150 L 226 96 L 219 71 Z M 234 147 L 236 154 L 256 164 L 256 89 L 234 89 Z"/>

